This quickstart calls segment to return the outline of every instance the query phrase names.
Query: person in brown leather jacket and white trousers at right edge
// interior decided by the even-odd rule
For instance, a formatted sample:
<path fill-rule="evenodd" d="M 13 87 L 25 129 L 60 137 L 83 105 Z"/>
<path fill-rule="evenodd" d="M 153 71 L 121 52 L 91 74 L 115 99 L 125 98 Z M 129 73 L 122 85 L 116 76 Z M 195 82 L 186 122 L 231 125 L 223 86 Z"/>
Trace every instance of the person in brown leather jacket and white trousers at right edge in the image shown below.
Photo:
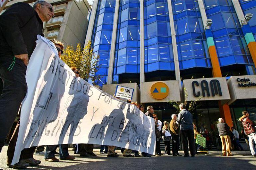
<path fill-rule="evenodd" d="M 251 150 L 251 154 L 256 156 L 256 149 L 254 147 L 253 141 L 256 143 L 256 130 L 255 130 L 255 123 L 249 119 L 250 113 L 247 111 L 242 112 L 243 116 L 239 118 L 239 121 L 242 122 L 244 133 L 249 138 L 249 146 Z"/>

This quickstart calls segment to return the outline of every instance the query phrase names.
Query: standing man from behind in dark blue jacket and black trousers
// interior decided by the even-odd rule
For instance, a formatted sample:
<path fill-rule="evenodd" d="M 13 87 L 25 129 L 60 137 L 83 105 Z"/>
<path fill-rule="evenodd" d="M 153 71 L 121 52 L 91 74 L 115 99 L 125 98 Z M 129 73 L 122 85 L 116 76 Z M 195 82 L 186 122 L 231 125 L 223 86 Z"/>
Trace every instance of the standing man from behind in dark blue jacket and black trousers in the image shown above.
<path fill-rule="evenodd" d="M 181 125 L 181 136 L 182 144 L 184 147 L 185 157 L 189 157 L 189 148 L 190 154 L 192 157 L 195 156 L 195 142 L 194 142 L 194 132 L 193 132 L 193 116 L 186 110 L 186 105 L 181 103 L 180 105 L 181 112 L 178 115 L 176 123 Z M 189 141 L 189 148 L 188 148 Z"/>

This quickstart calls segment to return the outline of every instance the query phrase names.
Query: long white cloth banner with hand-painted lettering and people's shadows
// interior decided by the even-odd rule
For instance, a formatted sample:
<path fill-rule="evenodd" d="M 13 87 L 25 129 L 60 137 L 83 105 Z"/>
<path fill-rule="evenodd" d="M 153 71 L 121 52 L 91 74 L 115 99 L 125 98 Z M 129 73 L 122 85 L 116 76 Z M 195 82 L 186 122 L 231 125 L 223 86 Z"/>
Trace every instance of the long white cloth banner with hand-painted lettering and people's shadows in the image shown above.
<path fill-rule="evenodd" d="M 76 78 L 54 44 L 38 35 L 26 72 L 12 164 L 23 148 L 65 143 L 114 145 L 154 154 L 155 122 L 136 106 Z"/>

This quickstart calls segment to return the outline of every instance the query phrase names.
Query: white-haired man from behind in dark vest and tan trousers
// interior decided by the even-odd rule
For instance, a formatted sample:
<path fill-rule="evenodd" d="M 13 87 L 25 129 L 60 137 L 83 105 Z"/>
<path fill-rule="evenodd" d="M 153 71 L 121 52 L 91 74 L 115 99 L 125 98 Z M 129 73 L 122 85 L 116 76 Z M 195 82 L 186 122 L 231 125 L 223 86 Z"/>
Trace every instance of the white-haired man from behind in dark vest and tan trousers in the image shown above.
<path fill-rule="evenodd" d="M 223 156 L 233 156 L 230 152 L 230 137 L 228 133 L 230 133 L 230 127 L 224 123 L 224 119 L 219 118 L 219 123 L 217 124 L 219 137 L 222 143 L 222 155 Z"/>

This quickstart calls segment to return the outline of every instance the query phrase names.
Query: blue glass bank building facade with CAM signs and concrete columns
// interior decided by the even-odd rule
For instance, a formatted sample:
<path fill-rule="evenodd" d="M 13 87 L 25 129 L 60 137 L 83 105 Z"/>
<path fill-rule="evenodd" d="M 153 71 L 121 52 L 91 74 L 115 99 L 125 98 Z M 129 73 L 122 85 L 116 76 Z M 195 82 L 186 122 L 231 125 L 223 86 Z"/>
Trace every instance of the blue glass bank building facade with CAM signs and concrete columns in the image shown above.
<path fill-rule="evenodd" d="M 199 100 L 194 122 L 212 138 L 219 117 L 241 130 L 241 111 L 256 121 L 255 11 L 255 0 L 94 0 L 85 43 L 97 83 L 134 88 L 162 121 L 177 113 L 168 101 Z"/>

